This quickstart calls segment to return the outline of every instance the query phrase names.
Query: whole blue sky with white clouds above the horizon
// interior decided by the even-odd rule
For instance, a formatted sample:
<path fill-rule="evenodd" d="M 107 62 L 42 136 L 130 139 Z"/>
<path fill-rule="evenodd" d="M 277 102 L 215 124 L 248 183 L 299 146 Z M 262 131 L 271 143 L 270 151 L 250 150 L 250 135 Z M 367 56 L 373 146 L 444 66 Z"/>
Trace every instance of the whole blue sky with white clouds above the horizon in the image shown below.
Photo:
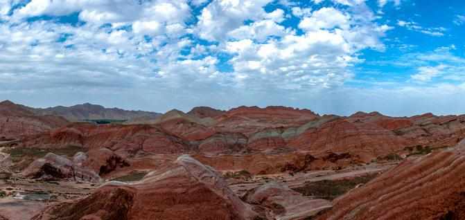
<path fill-rule="evenodd" d="M 0 0 L 0 99 L 465 113 L 465 3 Z"/>

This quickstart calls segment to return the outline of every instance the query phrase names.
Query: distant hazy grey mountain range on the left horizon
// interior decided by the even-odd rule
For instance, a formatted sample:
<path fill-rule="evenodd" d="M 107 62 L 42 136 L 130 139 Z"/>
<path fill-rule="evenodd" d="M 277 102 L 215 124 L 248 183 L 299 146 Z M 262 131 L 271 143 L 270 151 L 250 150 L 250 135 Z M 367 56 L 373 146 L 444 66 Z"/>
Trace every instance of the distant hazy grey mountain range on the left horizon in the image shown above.
<path fill-rule="evenodd" d="M 98 104 L 77 104 L 71 107 L 51 107 L 46 109 L 32 109 L 31 110 L 40 115 L 54 115 L 62 116 L 69 121 L 82 121 L 82 120 L 132 120 L 140 117 L 156 118 L 161 116 L 160 113 L 150 111 L 128 111 L 116 108 L 105 108 Z"/>

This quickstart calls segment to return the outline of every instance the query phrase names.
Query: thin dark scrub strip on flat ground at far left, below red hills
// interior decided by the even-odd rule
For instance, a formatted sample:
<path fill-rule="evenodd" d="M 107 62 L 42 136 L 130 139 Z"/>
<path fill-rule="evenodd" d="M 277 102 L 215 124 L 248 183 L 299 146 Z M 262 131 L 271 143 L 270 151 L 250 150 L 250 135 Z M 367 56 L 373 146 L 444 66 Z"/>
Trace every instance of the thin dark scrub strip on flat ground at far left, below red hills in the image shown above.
<path fill-rule="evenodd" d="M 14 163 L 21 161 L 23 158 L 41 158 L 48 153 L 57 155 L 74 156 L 78 152 L 82 152 L 82 147 L 67 146 L 60 149 L 42 149 L 42 148 L 26 148 L 26 147 L 10 147 L 5 150 L 10 154 L 11 160 Z"/>

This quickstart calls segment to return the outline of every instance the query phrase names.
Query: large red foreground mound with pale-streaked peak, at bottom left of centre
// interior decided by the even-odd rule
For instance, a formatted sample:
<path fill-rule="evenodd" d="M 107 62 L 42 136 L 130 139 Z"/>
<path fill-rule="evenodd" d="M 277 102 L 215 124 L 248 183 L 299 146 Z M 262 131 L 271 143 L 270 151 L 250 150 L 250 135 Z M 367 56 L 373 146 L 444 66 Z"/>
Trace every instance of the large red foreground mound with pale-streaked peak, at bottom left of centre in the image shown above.
<path fill-rule="evenodd" d="M 108 183 L 75 203 L 53 205 L 34 219 L 260 219 L 211 167 L 180 156 L 128 185 Z"/>

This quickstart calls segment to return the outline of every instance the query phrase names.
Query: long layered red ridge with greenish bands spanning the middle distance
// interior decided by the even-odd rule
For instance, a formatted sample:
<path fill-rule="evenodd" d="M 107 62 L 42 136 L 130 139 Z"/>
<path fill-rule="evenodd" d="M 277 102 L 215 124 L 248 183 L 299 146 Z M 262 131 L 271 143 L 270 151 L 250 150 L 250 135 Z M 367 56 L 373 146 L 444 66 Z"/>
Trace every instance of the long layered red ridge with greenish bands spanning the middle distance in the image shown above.
<path fill-rule="evenodd" d="M 7 109 L 21 120 L 33 121 L 27 109 L 9 106 Z M 128 124 L 72 123 L 34 132 L 26 129 L 28 135 L 22 136 L 18 145 L 42 149 L 74 146 L 85 152 L 105 148 L 128 161 L 148 154 L 195 154 L 202 163 L 218 169 L 271 174 L 405 158 L 452 147 L 465 138 L 463 115 L 428 113 L 397 118 L 359 112 L 349 117 L 319 116 L 289 107 L 238 107 L 229 111 L 198 107 L 189 113 L 173 110 Z"/>

